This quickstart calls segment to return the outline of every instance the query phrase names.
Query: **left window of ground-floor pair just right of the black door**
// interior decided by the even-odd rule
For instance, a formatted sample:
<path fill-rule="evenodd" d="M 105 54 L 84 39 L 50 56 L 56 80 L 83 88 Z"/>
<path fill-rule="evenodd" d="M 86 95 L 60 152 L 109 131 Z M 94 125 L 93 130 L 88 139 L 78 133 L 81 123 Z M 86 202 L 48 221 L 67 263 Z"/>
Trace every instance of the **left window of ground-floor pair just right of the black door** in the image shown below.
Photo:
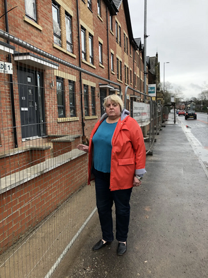
<path fill-rule="evenodd" d="M 57 92 L 57 103 L 58 103 L 58 117 L 65 117 L 64 82 L 59 77 L 57 77 L 56 79 L 56 92 Z"/>

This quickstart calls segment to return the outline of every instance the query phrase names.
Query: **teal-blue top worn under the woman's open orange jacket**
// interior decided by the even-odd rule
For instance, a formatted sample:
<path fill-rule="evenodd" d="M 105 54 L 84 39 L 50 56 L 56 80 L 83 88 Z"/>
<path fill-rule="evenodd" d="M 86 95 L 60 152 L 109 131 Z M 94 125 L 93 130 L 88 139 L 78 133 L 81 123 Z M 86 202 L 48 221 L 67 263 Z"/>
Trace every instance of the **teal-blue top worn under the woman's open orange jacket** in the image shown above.
<path fill-rule="evenodd" d="M 112 136 L 117 122 L 107 124 L 106 119 L 98 127 L 92 138 L 94 145 L 94 167 L 96 170 L 110 173 Z"/>

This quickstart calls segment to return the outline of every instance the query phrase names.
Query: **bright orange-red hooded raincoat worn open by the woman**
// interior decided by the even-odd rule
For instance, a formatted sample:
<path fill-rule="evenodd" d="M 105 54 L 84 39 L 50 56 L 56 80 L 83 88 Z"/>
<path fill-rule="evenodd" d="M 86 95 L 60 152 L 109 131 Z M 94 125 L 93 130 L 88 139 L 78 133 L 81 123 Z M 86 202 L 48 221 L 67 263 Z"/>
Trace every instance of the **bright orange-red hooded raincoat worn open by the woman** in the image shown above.
<path fill-rule="evenodd" d="M 93 179 L 91 173 L 93 164 L 92 138 L 104 118 L 102 117 L 95 124 L 89 138 L 88 184 Z M 135 174 L 146 173 L 145 163 L 146 147 L 139 124 L 129 115 L 125 116 L 123 120 L 120 118 L 112 137 L 110 190 L 132 188 Z"/>

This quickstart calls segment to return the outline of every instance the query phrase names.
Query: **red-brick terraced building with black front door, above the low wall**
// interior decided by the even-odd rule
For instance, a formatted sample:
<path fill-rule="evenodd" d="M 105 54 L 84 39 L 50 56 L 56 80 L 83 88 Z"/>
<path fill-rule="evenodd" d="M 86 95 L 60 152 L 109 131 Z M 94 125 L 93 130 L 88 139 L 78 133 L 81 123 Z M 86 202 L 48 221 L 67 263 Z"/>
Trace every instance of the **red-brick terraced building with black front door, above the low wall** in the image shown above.
<path fill-rule="evenodd" d="M 22 0 L 17 6 L 16 1 L 7 0 L 1 1 L 1 15 L 5 13 L 5 3 L 7 10 L 13 9 L 0 19 L 3 31 L 52 56 L 119 83 L 122 92 L 125 85 L 144 92 L 143 50 L 141 39 L 133 38 L 128 1 L 43 3 Z M 12 134 L 1 133 L 1 145 L 6 149 L 21 147 L 28 139 L 69 134 L 69 130 L 72 134 L 78 131 L 88 137 L 103 113 L 103 98 L 119 88 L 98 79 L 85 79 L 79 72 L 71 74 L 44 58 L 35 60 L 35 54 L 13 43 L 5 40 L 0 43 L 1 61 L 8 60 L 6 47 L 12 54 L 13 88 L 6 85 L 9 76 L 1 76 L 1 81 L 8 97 L 10 90 L 14 91 L 13 105 L 6 105 L 8 128 L 14 126 L 14 121 L 17 126 Z M 9 45 L 5 47 L 5 43 Z M 23 85 L 16 85 L 20 83 Z M 31 94 L 28 86 L 35 90 L 33 97 L 28 96 Z M 2 97 L 1 106 L 4 106 L 3 101 Z M 127 102 L 129 108 L 129 100 Z"/>

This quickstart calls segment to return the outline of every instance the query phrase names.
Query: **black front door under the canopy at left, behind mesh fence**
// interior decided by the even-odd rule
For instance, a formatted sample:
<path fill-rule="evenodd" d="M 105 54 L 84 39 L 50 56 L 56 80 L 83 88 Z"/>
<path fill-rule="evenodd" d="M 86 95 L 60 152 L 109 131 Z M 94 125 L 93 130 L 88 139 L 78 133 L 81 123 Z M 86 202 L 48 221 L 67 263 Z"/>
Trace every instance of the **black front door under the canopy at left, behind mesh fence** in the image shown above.
<path fill-rule="evenodd" d="M 41 75 L 26 70 L 18 73 L 22 139 L 41 136 L 44 133 Z"/>

